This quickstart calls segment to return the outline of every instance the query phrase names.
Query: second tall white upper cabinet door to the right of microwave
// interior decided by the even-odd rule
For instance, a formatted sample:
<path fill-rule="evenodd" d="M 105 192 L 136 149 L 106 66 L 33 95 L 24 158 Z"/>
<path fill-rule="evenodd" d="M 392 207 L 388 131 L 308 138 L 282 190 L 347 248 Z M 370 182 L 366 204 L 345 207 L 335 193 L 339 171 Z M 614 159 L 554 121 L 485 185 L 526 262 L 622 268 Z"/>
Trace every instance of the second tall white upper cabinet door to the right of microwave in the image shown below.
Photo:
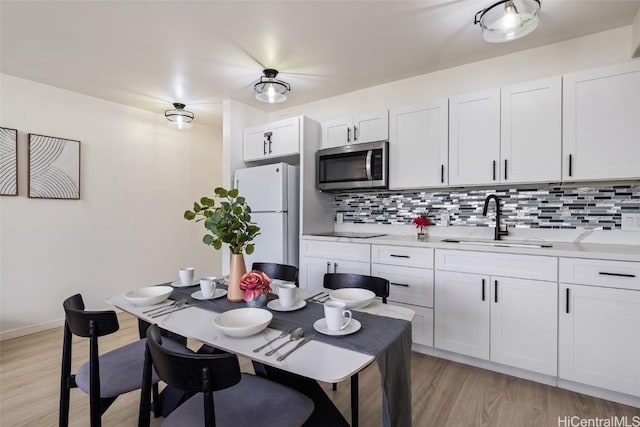
<path fill-rule="evenodd" d="M 449 99 L 449 184 L 494 184 L 500 176 L 500 89 Z"/>

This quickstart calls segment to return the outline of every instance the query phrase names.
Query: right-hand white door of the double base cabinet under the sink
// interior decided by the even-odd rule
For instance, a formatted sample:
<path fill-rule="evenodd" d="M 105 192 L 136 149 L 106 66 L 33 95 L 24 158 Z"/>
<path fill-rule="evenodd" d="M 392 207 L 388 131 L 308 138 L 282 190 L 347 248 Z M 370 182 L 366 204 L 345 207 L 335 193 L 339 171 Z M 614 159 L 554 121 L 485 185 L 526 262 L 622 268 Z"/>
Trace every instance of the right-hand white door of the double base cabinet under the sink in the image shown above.
<path fill-rule="evenodd" d="M 557 376 L 558 285 L 491 278 L 491 361 Z"/>

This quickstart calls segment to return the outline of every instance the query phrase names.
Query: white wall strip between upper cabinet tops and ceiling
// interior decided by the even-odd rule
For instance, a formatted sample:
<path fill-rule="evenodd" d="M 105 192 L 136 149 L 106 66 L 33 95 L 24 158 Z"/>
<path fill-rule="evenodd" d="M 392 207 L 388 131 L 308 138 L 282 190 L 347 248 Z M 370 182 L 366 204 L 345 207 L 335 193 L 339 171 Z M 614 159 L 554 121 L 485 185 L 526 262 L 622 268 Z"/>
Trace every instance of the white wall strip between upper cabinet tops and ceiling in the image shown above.
<path fill-rule="evenodd" d="M 629 61 L 630 49 L 631 27 L 621 27 L 285 108 L 271 113 L 269 121 L 300 114 L 324 121 L 417 105 L 477 90 Z"/>

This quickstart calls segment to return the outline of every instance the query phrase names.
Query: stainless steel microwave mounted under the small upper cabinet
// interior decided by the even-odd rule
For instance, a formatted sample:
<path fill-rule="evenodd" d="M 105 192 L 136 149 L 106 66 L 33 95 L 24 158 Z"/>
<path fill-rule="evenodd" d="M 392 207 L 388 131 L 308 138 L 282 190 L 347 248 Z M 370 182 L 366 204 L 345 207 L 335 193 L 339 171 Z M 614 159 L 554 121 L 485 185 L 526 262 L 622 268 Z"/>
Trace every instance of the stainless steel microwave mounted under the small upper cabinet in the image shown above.
<path fill-rule="evenodd" d="M 319 190 L 388 188 L 389 142 L 376 141 L 318 150 L 316 171 Z"/>

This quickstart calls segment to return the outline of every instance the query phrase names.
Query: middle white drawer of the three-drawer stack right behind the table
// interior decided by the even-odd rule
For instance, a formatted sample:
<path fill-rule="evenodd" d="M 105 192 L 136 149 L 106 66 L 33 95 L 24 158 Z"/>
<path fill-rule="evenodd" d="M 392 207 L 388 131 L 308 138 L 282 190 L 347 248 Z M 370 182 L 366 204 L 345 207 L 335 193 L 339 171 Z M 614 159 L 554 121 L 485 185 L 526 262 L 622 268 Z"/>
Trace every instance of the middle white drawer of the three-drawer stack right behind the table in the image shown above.
<path fill-rule="evenodd" d="M 371 264 L 371 275 L 390 282 L 389 301 L 433 307 L 433 270 Z"/>

